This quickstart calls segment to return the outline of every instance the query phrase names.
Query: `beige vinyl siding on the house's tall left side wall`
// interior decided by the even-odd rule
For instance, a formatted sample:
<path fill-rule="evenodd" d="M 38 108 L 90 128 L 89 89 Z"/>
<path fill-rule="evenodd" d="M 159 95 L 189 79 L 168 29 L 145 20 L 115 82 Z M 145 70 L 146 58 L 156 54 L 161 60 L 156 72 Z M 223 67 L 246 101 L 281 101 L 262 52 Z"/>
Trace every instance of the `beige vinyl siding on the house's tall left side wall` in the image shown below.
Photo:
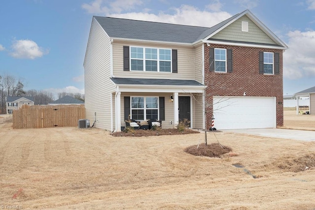
<path fill-rule="evenodd" d="M 110 53 L 110 38 L 93 19 L 84 61 L 86 118 L 94 122 L 96 112 L 94 126 L 106 130 L 111 129 L 110 99 L 115 91 L 109 79 Z"/>

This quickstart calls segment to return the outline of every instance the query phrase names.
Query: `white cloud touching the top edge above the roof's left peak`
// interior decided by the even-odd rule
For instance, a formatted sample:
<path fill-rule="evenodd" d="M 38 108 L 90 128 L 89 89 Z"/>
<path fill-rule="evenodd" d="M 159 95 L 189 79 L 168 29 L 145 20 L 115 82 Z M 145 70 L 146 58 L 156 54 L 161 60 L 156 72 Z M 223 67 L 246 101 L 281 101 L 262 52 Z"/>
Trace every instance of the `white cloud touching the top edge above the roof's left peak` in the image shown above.
<path fill-rule="evenodd" d="M 108 2 L 108 3 L 107 3 Z M 106 1 L 106 6 L 103 5 L 104 0 L 94 0 L 90 4 L 82 4 L 82 8 L 89 13 L 108 15 L 110 13 L 121 13 L 135 8 L 142 4 L 142 0 L 111 0 Z"/>

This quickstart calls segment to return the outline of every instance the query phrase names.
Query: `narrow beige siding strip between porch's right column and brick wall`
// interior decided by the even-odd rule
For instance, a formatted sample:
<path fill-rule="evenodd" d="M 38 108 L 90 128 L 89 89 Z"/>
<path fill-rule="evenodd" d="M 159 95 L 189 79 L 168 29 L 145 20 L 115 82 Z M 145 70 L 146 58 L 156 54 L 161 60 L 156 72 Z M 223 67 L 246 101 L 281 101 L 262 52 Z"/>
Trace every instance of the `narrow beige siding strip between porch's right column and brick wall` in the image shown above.
<path fill-rule="evenodd" d="M 192 97 L 192 113 L 193 113 L 193 124 L 192 128 L 202 129 L 203 125 L 203 100 L 202 94 L 194 94 Z"/>

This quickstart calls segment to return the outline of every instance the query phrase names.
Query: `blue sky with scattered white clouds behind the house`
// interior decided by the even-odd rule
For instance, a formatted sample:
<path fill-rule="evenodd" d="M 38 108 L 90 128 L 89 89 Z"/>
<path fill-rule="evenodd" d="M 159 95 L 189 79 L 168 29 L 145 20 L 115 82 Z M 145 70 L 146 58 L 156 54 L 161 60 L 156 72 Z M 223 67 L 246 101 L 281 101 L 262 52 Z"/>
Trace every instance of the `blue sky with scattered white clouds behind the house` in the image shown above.
<path fill-rule="evenodd" d="M 315 86 L 315 0 L 1 0 L 0 75 L 25 90 L 84 93 L 93 15 L 206 26 L 249 9 L 289 47 L 284 94 Z"/>

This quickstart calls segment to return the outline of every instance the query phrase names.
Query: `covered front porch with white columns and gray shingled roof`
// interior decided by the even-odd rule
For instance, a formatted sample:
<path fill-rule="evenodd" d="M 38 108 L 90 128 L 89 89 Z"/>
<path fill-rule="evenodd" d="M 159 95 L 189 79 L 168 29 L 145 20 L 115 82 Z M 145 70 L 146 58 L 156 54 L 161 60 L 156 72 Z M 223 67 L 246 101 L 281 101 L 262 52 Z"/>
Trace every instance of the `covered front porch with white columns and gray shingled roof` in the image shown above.
<path fill-rule="evenodd" d="M 112 130 L 120 132 L 128 118 L 140 122 L 161 121 L 162 128 L 174 128 L 182 119 L 191 128 L 204 129 L 204 85 L 195 80 L 111 78 Z"/>

